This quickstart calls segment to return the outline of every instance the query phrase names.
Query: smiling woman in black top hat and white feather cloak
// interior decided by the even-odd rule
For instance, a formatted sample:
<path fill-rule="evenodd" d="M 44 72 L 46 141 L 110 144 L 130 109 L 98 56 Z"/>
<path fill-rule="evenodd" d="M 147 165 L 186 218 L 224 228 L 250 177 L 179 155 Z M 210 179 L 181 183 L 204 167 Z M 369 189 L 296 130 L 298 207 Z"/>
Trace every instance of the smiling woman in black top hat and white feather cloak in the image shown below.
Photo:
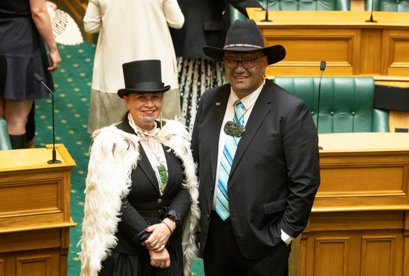
<path fill-rule="evenodd" d="M 161 61 L 123 64 L 122 122 L 94 132 L 81 275 L 190 275 L 198 180 L 186 127 L 161 118 Z"/>

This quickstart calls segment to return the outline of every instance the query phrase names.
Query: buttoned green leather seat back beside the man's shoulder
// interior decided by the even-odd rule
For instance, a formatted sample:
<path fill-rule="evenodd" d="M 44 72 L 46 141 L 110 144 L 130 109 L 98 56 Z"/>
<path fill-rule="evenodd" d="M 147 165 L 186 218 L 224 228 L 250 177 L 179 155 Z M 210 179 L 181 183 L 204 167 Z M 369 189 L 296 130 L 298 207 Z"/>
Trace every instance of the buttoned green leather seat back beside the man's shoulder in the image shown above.
<path fill-rule="evenodd" d="M 275 77 L 274 82 L 306 102 L 317 121 L 319 77 Z M 389 113 L 373 108 L 372 77 L 323 77 L 319 133 L 389 132 Z"/>

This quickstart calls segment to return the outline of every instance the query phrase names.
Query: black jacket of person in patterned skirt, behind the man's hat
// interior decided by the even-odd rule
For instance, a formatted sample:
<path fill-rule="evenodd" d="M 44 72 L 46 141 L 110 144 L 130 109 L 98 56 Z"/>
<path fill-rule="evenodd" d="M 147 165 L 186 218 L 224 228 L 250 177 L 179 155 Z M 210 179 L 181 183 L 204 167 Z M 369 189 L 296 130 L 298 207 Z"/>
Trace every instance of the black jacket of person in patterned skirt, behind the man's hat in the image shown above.
<path fill-rule="evenodd" d="M 262 8 L 257 0 L 226 1 L 246 16 L 247 7 Z M 178 0 L 178 3 L 185 17 L 184 26 L 170 28 L 177 57 L 210 59 L 202 48 L 206 45 L 223 48 L 230 23 L 230 19 L 223 15 L 229 7 L 223 0 Z"/>

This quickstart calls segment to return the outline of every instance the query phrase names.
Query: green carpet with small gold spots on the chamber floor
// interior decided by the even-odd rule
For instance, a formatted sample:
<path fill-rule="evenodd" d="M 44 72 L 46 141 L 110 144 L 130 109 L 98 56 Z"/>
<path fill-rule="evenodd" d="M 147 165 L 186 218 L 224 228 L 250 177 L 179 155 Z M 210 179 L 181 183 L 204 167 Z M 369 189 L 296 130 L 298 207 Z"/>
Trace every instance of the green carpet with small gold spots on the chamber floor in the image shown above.
<path fill-rule="evenodd" d="M 77 46 L 60 46 L 61 66 L 53 74 L 55 143 L 62 143 L 70 152 L 77 166 L 71 170 L 70 215 L 76 226 L 70 228 L 70 249 L 68 252 L 68 275 L 80 275 L 80 248 L 77 243 L 81 236 L 84 216 L 85 177 L 89 161 L 91 135 L 87 133 L 89 96 L 91 93 L 92 68 L 94 64 L 94 43 Z M 52 101 L 36 101 L 36 147 L 52 144 Z M 202 276 L 202 260 L 193 264 L 193 273 Z"/>

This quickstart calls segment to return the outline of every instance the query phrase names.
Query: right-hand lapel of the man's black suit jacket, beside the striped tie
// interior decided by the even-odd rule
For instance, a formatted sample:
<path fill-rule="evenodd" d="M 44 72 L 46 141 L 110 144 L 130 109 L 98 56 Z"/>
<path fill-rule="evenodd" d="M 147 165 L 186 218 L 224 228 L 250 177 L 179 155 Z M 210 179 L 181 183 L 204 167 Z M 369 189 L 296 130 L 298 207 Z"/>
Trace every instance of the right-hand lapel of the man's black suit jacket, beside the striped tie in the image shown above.
<path fill-rule="evenodd" d="M 258 96 L 258 99 L 254 103 L 253 110 L 251 111 L 250 117 L 248 117 L 248 120 L 246 123 L 246 131 L 241 137 L 239 141 L 239 145 L 237 145 L 235 159 L 233 160 L 232 168 L 230 170 L 230 175 L 234 173 L 235 168 L 237 167 L 237 164 L 239 164 L 241 157 L 243 157 L 243 154 L 244 152 L 246 152 L 248 145 L 251 143 L 251 140 L 253 140 L 255 133 L 257 133 L 258 129 L 260 129 L 260 126 L 262 122 L 264 121 L 265 117 L 271 111 L 271 108 L 269 107 L 269 103 L 272 102 L 271 89 L 272 89 L 272 85 L 267 80 L 265 82 L 264 87 L 262 87 L 262 90 L 260 92 L 260 95 Z"/>

